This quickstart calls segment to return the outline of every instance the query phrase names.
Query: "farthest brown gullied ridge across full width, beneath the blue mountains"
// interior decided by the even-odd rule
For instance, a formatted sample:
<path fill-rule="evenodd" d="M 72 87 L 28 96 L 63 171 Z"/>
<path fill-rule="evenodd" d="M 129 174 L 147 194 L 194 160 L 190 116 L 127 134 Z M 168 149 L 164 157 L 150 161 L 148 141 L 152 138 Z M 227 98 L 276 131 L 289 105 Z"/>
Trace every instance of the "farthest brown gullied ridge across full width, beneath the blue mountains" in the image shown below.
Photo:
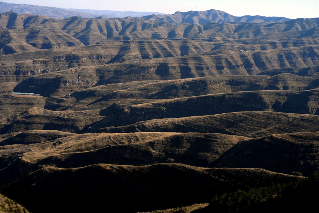
<path fill-rule="evenodd" d="M 158 22 L 157 20 L 150 22 L 132 19 L 106 19 L 102 17 L 90 19 L 80 17 L 49 19 L 42 16 L 28 17 L 14 12 L 2 13 L 0 17 L 0 28 L 3 29 L 3 33 L 6 34 L 4 45 L 8 43 L 8 41 L 12 43 L 13 37 L 10 36 L 10 33 L 15 33 L 17 29 L 20 29 L 19 31 L 25 32 L 27 35 L 25 37 L 15 33 L 18 37 L 17 39 L 21 40 L 21 45 L 29 44 L 37 49 L 78 46 L 81 43 L 91 45 L 114 37 L 117 37 L 117 40 L 130 40 L 137 38 L 163 39 L 195 36 L 197 38 L 208 37 L 215 40 L 224 40 L 226 38 L 241 39 L 265 35 L 267 35 L 268 38 L 278 37 L 280 33 L 274 34 L 278 32 L 282 32 L 283 37 L 281 37 L 281 39 L 287 37 L 287 35 L 292 35 L 296 36 L 295 39 L 300 39 L 305 42 L 305 38 L 307 37 L 309 37 L 309 40 L 315 38 L 316 31 L 310 29 L 316 29 L 316 27 L 318 27 L 318 20 L 316 18 L 295 19 L 292 21 L 277 22 L 277 24 L 243 24 L 236 22 L 225 24 L 206 23 L 175 24 Z M 56 30 L 56 32 L 52 30 L 48 31 L 46 28 L 53 28 L 52 30 Z M 49 40 L 44 40 L 48 38 L 41 38 L 41 34 L 53 32 L 56 35 L 55 37 L 51 34 L 51 36 L 48 37 L 50 38 Z M 221 33 L 223 33 L 223 36 L 221 36 Z M 70 36 L 73 36 L 75 39 L 72 40 Z M 56 39 L 59 39 L 60 42 Z M 80 43 L 76 41 L 76 39 L 79 40 Z M 280 45 L 281 42 L 279 39 L 280 38 L 277 38 L 278 42 L 272 42 L 271 44 L 276 45 L 277 43 Z M 40 40 L 43 42 L 42 44 L 41 42 L 37 42 Z M 61 44 L 62 40 L 64 40 L 64 44 Z M 54 44 L 59 46 L 52 46 Z M 285 45 L 287 44 L 285 43 Z"/>

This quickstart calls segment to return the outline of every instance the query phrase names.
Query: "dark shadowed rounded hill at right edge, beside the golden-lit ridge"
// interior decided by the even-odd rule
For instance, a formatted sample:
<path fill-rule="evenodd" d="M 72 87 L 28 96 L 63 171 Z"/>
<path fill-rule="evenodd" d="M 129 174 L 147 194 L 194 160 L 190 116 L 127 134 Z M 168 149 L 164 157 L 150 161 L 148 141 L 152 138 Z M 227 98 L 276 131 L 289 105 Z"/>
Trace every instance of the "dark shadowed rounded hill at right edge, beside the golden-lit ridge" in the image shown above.
<path fill-rule="evenodd" d="M 308 176 L 319 169 L 318 138 L 319 132 L 303 132 L 244 140 L 224 153 L 214 166 L 253 166 Z"/>

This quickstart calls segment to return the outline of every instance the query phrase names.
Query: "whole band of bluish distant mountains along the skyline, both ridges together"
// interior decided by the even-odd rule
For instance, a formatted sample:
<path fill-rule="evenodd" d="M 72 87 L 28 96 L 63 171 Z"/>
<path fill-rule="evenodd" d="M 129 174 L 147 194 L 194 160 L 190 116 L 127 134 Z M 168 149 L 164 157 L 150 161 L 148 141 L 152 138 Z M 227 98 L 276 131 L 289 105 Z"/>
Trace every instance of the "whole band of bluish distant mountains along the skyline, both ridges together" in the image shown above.
<path fill-rule="evenodd" d="M 285 17 L 266 17 L 266 16 L 233 16 L 229 13 L 219 10 L 207 11 L 177 11 L 172 15 L 167 15 L 158 12 L 136 12 L 136 11 L 109 11 L 109 10 L 89 10 L 89 9 L 65 9 L 57 7 L 46 7 L 30 4 L 10 4 L 0 2 L 0 13 L 13 11 L 19 14 L 34 14 L 41 16 L 48 16 L 50 18 L 68 18 L 78 16 L 82 18 L 126 18 L 136 20 L 149 20 L 156 22 L 169 22 L 174 24 L 189 23 L 189 24 L 207 24 L 211 22 L 226 23 L 226 22 L 283 22 L 292 20 Z"/>

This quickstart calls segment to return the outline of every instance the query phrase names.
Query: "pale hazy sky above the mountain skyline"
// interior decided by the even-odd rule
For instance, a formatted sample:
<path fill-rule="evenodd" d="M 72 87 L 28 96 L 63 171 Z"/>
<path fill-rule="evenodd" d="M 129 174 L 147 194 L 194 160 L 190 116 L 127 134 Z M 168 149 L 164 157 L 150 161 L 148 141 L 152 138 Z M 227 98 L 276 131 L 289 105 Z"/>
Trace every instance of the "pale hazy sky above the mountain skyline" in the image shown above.
<path fill-rule="evenodd" d="M 176 11 L 215 9 L 234 16 L 319 17 L 319 0 L 4 0 L 4 2 L 62 8 L 149 11 L 167 14 L 173 14 Z"/>

